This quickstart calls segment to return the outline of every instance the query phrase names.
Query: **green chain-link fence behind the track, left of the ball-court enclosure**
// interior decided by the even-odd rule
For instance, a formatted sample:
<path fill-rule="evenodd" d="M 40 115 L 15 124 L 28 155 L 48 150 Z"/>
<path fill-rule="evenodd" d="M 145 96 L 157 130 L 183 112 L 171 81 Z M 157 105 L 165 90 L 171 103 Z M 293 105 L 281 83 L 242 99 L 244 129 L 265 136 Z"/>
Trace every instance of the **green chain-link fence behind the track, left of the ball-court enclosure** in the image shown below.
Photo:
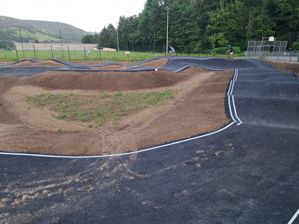
<path fill-rule="evenodd" d="M 173 46 L 180 56 L 223 56 L 211 50 L 195 51 L 190 46 Z M 98 47 L 96 44 L 15 43 L 15 50 L 0 51 L 0 59 L 22 60 L 60 58 L 66 61 L 139 61 L 153 56 L 170 55 L 166 46 Z M 9 55 L 8 55 L 9 54 Z M 8 58 L 9 57 L 9 58 Z"/>

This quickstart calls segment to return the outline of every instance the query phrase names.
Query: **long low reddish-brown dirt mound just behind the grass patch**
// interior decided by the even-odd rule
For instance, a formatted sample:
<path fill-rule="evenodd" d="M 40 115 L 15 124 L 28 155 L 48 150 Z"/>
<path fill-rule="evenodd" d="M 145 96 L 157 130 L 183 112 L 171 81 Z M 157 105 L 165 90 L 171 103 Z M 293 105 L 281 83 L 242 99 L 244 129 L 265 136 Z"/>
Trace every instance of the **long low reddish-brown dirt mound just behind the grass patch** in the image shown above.
<path fill-rule="evenodd" d="M 24 85 L 64 90 L 126 91 L 170 86 L 187 74 L 168 71 L 112 72 L 112 71 L 47 71 L 28 77 Z"/>

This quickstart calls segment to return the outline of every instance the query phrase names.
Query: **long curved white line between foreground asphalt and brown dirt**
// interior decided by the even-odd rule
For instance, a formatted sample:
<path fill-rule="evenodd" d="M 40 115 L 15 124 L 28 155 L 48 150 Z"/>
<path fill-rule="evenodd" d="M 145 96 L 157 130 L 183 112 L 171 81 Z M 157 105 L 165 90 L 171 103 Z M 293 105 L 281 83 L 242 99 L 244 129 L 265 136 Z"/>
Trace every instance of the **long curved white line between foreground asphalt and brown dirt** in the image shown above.
<path fill-rule="evenodd" d="M 162 148 L 162 147 L 165 147 L 165 146 L 174 145 L 174 144 L 178 144 L 178 143 L 185 142 L 185 141 L 190 141 L 190 140 L 193 140 L 193 139 L 202 138 L 202 137 L 205 137 L 205 136 L 208 136 L 208 135 L 211 135 L 211 134 L 216 134 L 216 133 L 228 128 L 229 126 L 231 126 L 234 123 L 236 123 L 236 122 L 231 122 L 227 126 L 221 128 L 219 130 L 216 130 L 214 132 L 208 133 L 208 134 L 200 135 L 200 136 L 193 137 L 193 138 L 188 138 L 188 139 L 181 140 L 181 141 L 172 142 L 172 143 L 169 143 L 169 144 L 166 144 L 166 145 L 159 145 L 159 146 L 155 146 L 155 147 L 140 150 L 140 151 L 127 152 L 127 153 L 122 153 L 122 154 L 97 155 L 97 156 L 58 156 L 58 155 L 42 155 L 42 154 L 28 154 L 28 153 L 12 153 L 12 152 L 0 152 L 0 154 L 2 154 L 2 155 L 24 155 L 24 156 L 37 156 L 37 157 L 52 157 L 52 158 L 99 158 L 99 157 L 122 156 L 122 155 L 129 155 L 129 154 L 134 154 L 134 153 L 139 153 L 139 152 L 145 152 L 145 151 L 149 151 L 149 150 L 156 149 L 156 148 Z"/>

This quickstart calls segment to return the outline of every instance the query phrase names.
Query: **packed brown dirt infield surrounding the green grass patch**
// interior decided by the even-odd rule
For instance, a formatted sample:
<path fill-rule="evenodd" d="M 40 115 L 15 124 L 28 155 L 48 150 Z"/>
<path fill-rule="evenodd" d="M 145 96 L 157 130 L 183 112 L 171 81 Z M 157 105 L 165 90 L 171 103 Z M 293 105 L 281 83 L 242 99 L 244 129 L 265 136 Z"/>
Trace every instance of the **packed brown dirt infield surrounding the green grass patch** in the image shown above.
<path fill-rule="evenodd" d="M 85 65 L 88 64 L 92 63 Z M 155 65 L 157 61 L 146 67 Z M 0 75 L 0 151 L 113 154 L 213 131 L 229 122 L 224 99 L 232 75 L 233 71 L 196 67 L 180 73 L 55 71 L 34 77 Z M 166 89 L 183 91 L 162 107 L 124 117 L 121 128 L 112 123 L 94 128 L 84 122 L 59 120 L 55 118 L 56 112 L 40 110 L 25 102 L 27 96 L 48 92 L 110 94 Z M 58 132 L 59 129 L 62 131 Z"/>

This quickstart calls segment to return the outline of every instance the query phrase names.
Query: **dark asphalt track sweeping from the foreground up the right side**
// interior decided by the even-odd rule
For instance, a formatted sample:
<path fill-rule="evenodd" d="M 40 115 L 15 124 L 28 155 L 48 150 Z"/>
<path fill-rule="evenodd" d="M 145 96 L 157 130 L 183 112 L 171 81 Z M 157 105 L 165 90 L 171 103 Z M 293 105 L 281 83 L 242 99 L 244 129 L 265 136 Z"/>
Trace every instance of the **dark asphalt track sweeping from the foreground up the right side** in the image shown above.
<path fill-rule="evenodd" d="M 298 224 L 299 82 L 257 59 L 170 57 L 235 69 L 220 131 L 96 158 L 0 154 L 0 223 Z"/>

